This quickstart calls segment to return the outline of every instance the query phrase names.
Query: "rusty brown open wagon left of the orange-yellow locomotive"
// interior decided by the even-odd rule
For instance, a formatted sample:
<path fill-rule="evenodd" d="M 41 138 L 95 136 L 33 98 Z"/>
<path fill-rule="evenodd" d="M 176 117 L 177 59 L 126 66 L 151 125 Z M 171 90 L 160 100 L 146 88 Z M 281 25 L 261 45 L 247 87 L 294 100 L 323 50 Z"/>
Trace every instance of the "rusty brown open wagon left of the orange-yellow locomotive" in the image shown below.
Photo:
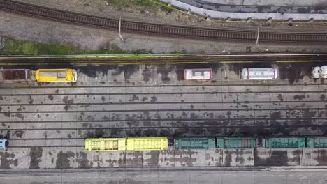
<path fill-rule="evenodd" d="M 0 82 L 29 82 L 35 80 L 35 71 L 28 69 L 0 69 Z"/>

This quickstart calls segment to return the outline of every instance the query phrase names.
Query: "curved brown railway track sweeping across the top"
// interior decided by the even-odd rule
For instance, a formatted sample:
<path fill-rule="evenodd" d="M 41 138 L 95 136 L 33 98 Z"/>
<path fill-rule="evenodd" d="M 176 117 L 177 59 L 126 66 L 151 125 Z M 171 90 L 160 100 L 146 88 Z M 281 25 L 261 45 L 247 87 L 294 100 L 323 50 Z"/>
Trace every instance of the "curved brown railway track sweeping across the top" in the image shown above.
<path fill-rule="evenodd" d="M 41 18 L 55 22 L 77 24 L 100 29 L 118 31 L 119 20 L 82 13 L 68 12 L 54 8 L 42 7 L 28 3 L 10 0 L 0 0 L 0 10 Z M 148 36 L 163 36 L 170 38 L 186 38 L 191 40 L 210 40 L 233 43 L 255 44 L 258 33 L 256 30 L 233 31 L 226 29 L 213 29 L 209 27 L 177 26 L 168 24 L 155 24 L 149 22 L 122 21 L 121 28 L 126 33 L 137 33 Z M 303 32 L 272 32 L 262 30 L 259 33 L 259 42 L 273 45 L 316 45 L 327 46 L 327 33 Z"/>

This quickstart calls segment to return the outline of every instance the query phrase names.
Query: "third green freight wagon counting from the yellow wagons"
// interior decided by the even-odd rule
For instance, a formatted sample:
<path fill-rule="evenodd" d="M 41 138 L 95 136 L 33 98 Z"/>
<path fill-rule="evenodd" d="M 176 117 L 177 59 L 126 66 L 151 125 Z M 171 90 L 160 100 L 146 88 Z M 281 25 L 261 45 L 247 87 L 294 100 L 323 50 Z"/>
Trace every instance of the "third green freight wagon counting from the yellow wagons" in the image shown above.
<path fill-rule="evenodd" d="M 263 148 L 305 148 L 305 137 L 271 137 L 261 138 Z"/>

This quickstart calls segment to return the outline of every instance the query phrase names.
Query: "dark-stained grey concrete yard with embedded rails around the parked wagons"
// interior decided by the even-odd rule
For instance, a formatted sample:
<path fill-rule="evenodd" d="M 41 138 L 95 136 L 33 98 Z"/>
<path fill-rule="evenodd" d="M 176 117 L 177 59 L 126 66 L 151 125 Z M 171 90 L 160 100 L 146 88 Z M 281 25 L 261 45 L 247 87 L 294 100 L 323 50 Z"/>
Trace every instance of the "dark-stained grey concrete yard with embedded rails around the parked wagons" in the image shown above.
<path fill-rule="evenodd" d="M 10 139 L 0 166 L 326 165 L 324 150 L 83 151 L 87 137 L 326 135 L 326 81 L 310 74 L 321 64 L 274 64 L 273 81 L 240 79 L 241 68 L 269 63 L 61 66 L 75 68 L 78 82 L 0 84 L 0 135 Z M 184 81 L 184 68 L 212 68 L 213 79 Z"/>

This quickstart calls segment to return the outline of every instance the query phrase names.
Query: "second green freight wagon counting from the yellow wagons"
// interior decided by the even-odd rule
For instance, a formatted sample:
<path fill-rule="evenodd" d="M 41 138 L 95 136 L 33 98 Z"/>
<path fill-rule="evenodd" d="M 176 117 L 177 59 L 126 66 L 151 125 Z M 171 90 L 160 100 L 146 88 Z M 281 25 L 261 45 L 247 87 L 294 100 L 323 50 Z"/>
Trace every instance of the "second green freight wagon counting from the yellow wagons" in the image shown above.
<path fill-rule="evenodd" d="M 217 148 L 256 148 L 256 138 L 252 137 L 216 137 Z"/>

